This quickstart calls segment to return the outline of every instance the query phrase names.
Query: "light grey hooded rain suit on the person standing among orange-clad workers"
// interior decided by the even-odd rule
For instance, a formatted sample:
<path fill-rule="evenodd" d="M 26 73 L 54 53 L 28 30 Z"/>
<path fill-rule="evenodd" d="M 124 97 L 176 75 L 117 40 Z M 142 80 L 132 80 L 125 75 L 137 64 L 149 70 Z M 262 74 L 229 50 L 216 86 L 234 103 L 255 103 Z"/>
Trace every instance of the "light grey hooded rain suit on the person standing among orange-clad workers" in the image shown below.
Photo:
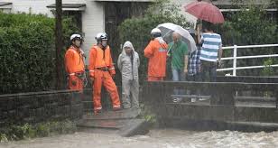
<path fill-rule="evenodd" d="M 125 47 L 132 49 L 130 55 L 126 54 Z M 117 60 L 117 66 L 122 73 L 122 100 L 124 108 L 131 107 L 131 103 L 133 107 L 139 107 L 139 65 L 139 55 L 134 51 L 133 44 L 128 41 L 125 42 L 123 51 Z"/>

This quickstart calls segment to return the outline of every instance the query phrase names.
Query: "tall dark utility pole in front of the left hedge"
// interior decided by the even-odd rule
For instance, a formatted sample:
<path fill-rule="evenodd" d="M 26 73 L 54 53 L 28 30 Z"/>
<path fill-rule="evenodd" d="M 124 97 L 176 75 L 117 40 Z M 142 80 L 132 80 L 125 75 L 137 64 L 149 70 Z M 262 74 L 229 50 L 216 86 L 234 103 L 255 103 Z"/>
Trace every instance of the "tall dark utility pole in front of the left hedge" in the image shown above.
<path fill-rule="evenodd" d="M 61 89 L 61 49 L 63 48 L 62 42 L 62 0 L 56 0 L 56 16 L 55 16 L 55 48 L 56 48 L 56 89 Z"/>

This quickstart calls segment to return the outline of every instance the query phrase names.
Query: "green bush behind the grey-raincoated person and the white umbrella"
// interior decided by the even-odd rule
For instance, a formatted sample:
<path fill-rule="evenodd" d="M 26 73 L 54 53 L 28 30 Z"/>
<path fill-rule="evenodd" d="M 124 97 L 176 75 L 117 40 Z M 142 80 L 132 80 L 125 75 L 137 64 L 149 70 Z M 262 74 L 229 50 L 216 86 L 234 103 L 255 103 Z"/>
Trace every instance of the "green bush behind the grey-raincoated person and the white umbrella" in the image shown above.
<path fill-rule="evenodd" d="M 160 23 L 176 23 L 183 27 L 190 26 L 190 23 L 186 22 L 186 18 L 180 14 L 180 10 L 179 5 L 173 5 L 170 1 L 155 1 L 146 10 L 144 16 L 126 19 L 118 27 L 120 41 L 123 43 L 125 41 L 132 42 L 134 49 L 141 57 L 140 79 L 146 78 L 147 61 L 144 58 L 144 48 L 151 39 L 150 32 L 152 29 Z"/>

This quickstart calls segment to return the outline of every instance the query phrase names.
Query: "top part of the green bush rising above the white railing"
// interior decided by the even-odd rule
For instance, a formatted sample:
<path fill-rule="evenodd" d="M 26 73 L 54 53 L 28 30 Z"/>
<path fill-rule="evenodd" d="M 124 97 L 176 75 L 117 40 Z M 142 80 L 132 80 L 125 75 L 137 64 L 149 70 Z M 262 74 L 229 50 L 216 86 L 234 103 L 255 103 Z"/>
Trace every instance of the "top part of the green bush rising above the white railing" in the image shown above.
<path fill-rule="evenodd" d="M 224 25 L 224 32 L 233 34 L 233 43 L 237 45 L 251 45 L 277 42 L 277 24 L 272 23 L 266 17 L 261 8 L 250 7 L 233 15 L 231 20 Z M 229 30 L 227 30 L 229 29 Z M 231 38 L 226 36 L 226 39 Z M 231 42 L 225 42 L 231 43 Z"/>

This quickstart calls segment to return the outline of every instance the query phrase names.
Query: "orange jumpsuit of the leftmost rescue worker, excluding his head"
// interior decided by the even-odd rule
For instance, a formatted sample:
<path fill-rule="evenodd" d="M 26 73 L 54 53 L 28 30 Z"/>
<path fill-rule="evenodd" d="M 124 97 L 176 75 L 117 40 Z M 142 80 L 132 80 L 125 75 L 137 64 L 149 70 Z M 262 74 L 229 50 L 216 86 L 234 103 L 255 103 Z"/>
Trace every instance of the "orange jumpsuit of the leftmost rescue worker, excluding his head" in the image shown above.
<path fill-rule="evenodd" d="M 70 46 L 69 50 L 65 54 L 65 67 L 69 74 L 69 88 L 75 90 L 83 90 L 83 79 L 80 79 L 78 75 L 83 74 L 84 60 L 79 48 Z"/>

